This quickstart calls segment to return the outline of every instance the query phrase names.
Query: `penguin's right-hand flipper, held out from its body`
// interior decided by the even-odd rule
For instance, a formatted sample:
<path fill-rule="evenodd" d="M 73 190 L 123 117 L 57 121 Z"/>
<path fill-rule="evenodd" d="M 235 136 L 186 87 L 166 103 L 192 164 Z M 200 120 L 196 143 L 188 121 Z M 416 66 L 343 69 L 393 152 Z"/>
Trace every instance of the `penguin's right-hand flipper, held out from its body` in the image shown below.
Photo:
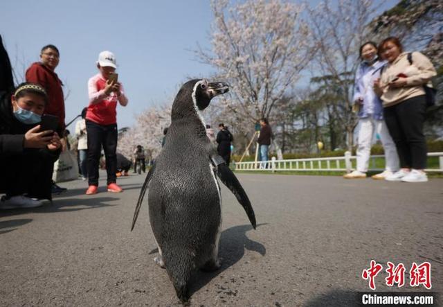
<path fill-rule="evenodd" d="M 217 176 L 220 178 L 221 182 L 223 182 L 223 184 L 235 195 L 238 202 L 242 205 L 244 211 L 246 211 L 252 227 L 255 229 L 256 222 L 254 209 L 252 208 L 251 202 L 249 201 L 248 195 L 246 195 L 242 184 L 240 184 L 233 171 L 230 170 L 230 168 L 226 165 L 223 158 L 220 156 L 215 156 L 212 157 L 212 161 L 213 164 L 215 164 Z"/>

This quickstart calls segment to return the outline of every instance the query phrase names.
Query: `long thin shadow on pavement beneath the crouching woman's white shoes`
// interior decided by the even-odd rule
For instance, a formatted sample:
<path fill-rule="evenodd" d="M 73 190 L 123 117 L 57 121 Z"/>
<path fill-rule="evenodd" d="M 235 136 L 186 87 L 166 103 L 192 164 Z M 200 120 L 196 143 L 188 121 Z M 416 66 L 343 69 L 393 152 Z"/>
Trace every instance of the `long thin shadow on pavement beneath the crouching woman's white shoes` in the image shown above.
<path fill-rule="evenodd" d="M 85 209 L 97 209 L 102 207 L 114 207 L 116 204 L 106 204 L 118 198 L 64 198 L 51 202 L 45 202 L 42 207 L 29 209 L 10 209 L 1 211 L 1 216 L 16 216 L 24 213 L 55 213 L 55 212 L 73 212 Z"/>

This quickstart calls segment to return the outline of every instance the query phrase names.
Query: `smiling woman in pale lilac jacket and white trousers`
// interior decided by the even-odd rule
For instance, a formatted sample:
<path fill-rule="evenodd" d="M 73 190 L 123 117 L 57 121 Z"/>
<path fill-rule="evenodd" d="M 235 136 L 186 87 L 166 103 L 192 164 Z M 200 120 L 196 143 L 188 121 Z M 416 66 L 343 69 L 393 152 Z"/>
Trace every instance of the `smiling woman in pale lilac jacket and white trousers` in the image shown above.
<path fill-rule="evenodd" d="M 347 179 L 365 178 L 368 171 L 370 150 L 374 132 L 380 136 L 385 151 L 386 168 L 383 173 L 373 175 L 373 179 L 385 179 L 399 169 L 399 158 L 395 143 L 392 141 L 386 123 L 383 120 L 381 100 L 374 93 L 374 80 L 379 78 L 385 62 L 377 57 L 377 44 L 365 42 L 360 47 L 361 64 L 356 72 L 354 85 L 354 104 L 359 115 L 359 138 L 357 148 L 357 166 L 352 173 L 344 175 Z"/>

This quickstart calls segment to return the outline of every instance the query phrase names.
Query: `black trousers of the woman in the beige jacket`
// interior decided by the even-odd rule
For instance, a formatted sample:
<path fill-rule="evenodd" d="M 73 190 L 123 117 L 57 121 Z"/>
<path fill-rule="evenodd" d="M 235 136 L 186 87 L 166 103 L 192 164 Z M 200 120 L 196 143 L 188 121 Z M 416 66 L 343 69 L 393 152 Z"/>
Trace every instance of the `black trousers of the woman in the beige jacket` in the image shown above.
<path fill-rule="evenodd" d="M 426 168 L 426 139 L 423 134 L 425 112 L 425 96 L 413 97 L 383 110 L 390 136 L 397 147 L 401 168 Z"/>

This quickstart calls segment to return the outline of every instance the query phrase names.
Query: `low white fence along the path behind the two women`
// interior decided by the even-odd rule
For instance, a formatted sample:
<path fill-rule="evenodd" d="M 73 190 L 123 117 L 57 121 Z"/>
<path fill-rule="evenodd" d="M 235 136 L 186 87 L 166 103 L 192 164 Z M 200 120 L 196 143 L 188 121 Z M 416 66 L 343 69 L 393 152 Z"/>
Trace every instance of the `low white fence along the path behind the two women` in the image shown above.
<path fill-rule="evenodd" d="M 426 172 L 442 172 L 443 173 L 443 152 L 428 152 L 428 157 L 438 157 L 438 168 L 426 168 Z M 369 171 L 382 171 L 383 168 L 375 167 L 375 159 L 384 158 L 384 155 L 370 156 Z M 308 159 L 286 159 L 277 160 L 272 157 L 271 160 L 266 161 L 266 168 L 261 167 L 264 162 L 252 161 L 252 162 L 236 162 L 235 170 L 263 170 L 269 171 L 281 171 L 281 170 L 293 170 L 298 172 L 303 171 L 340 171 L 351 172 L 352 161 L 356 160 L 356 156 L 352 156 L 350 152 L 345 152 L 343 157 L 325 157 L 325 158 L 308 158 Z M 356 163 L 354 163 L 355 165 Z"/>

